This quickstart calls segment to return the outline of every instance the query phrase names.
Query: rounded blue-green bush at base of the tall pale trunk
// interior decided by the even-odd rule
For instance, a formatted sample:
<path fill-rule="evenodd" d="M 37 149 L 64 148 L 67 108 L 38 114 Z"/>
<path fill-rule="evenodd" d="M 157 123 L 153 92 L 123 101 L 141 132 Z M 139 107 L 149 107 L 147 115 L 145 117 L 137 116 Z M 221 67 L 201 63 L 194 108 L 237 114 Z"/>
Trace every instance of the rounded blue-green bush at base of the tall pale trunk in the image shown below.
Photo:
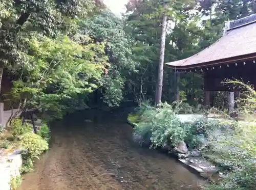
<path fill-rule="evenodd" d="M 135 126 L 135 133 L 142 135 L 145 141 L 150 139 L 153 147 L 175 146 L 184 140 L 185 128 L 171 105 L 163 103 L 155 108 L 144 104 L 138 113 L 140 122 Z"/>

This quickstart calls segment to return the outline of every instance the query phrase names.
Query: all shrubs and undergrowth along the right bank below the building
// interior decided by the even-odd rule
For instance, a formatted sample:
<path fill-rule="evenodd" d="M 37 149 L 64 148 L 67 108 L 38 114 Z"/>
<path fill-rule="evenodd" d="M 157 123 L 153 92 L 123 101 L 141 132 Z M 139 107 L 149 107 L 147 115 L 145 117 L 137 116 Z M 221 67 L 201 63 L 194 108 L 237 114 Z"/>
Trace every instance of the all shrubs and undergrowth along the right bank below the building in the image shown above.
<path fill-rule="evenodd" d="M 254 190 L 256 186 L 256 92 L 238 80 L 225 83 L 238 86 L 245 98 L 238 99 L 234 112 L 244 121 L 230 118 L 207 120 L 206 117 L 191 122 L 182 122 L 178 116 L 179 108 L 173 104 L 160 104 L 155 108 L 142 103 L 136 115 L 129 119 L 136 122 L 134 132 L 151 141 L 153 147 L 166 144 L 175 147 L 184 141 L 188 148 L 197 148 L 209 160 L 222 167 L 225 178 L 218 184 L 206 185 L 207 190 Z M 177 104 L 176 104 L 177 105 Z"/>

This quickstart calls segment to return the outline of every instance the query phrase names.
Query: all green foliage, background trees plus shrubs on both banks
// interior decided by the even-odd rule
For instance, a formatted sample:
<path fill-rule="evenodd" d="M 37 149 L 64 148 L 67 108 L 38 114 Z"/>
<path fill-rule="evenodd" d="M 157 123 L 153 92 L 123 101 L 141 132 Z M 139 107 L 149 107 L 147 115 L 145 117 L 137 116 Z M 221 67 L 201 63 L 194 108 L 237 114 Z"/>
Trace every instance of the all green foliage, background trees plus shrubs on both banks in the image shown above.
<path fill-rule="evenodd" d="M 1 93 L 1 100 L 4 97 L 23 111 L 36 108 L 47 120 L 92 106 L 135 101 L 140 109 L 129 119 L 136 123 L 135 132 L 145 141 L 153 147 L 174 147 L 184 141 L 190 148 L 200 148 L 207 139 L 219 145 L 210 150 L 216 153 L 216 159 L 225 160 L 225 165 L 234 171 L 223 185 L 210 188 L 252 189 L 254 125 L 232 123 L 232 133 L 220 140 L 214 135 L 219 123 L 187 123 L 178 117 L 178 113 L 197 110 L 188 104 L 195 107 L 202 102 L 201 74 L 181 73 L 179 95 L 185 103 L 161 104 L 159 108 L 151 103 L 155 99 L 163 15 L 168 23 L 164 61 L 170 62 L 214 43 L 222 35 L 226 20 L 256 13 L 255 2 L 130 0 L 126 8 L 127 12 L 119 18 L 101 0 L 2 0 L 0 88 L 6 79 L 11 81 L 12 89 Z M 175 100 L 176 82 L 176 70 L 164 68 L 163 102 Z M 239 102 L 241 108 L 237 112 L 248 119 L 256 101 L 255 91 L 246 89 L 247 98 Z M 225 98 L 225 93 L 216 93 L 214 105 L 224 109 Z M 141 104 L 145 100 L 148 104 Z M 46 125 L 38 134 L 29 130 L 30 126 L 22 126 L 22 121 L 12 121 L 10 139 L 24 135 L 21 143 L 30 150 L 25 171 L 33 165 L 32 159 L 47 149 L 50 132 Z M 2 146 L 8 147 L 6 141 Z M 236 148 L 225 154 L 225 146 Z M 245 175 L 245 171 L 250 175 Z"/>

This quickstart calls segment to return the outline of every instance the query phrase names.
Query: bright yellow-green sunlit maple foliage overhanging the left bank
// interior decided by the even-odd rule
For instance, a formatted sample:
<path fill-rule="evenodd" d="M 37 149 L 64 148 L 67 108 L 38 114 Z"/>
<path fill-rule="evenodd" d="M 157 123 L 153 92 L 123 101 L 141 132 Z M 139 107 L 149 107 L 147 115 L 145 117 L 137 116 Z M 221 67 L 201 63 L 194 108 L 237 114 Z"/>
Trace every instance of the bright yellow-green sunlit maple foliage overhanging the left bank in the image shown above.
<path fill-rule="evenodd" d="M 19 72 L 23 80 L 15 82 L 13 96 L 27 98 L 40 108 L 46 103 L 50 106 L 52 100 L 56 104 L 99 88 L 107 65 L 104 44 L 94 44 L 87 36 L 84 39 L 87 44 L 67 36 L 51 39 L 32 35 L 27 47 L 28 63 Z"/>

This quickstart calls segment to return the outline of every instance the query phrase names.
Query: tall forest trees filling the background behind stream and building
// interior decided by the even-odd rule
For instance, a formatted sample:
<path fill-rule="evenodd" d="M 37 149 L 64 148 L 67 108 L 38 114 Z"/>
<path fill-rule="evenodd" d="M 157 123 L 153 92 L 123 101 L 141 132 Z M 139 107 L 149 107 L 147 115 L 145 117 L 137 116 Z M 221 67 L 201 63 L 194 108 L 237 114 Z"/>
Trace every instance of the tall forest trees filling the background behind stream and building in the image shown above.
<path fill-rule="evenodd" d="M 100 0 L 3 0 L 1 75 L 13 88 L 1 98 L 58 117 L 88 106 L 154 100 L 163 14 L 164 61 L 170 62 L 214 43 L 226 20 L 253 14 L 256 6 L 248 0 L 130 0 L 126 10 L 118 17 Z M 202 76 L 181 75 L 181 99 L 201 103 Z M 164 68 L 162 101 L 175 100 L 175 87 L 175 70 Z"/>

